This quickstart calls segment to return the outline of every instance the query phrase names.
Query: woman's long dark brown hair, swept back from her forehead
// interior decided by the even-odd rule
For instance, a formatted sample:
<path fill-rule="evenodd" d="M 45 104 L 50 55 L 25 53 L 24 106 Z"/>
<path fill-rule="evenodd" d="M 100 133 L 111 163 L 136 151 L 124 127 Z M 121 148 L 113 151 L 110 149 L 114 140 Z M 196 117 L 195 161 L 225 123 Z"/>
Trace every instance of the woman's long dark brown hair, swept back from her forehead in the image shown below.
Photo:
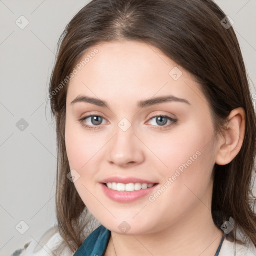
<path fill-rule="evenodd" d="M 72 251 L 86 238 L 83 231 L 90 219 L 67 178 L 70 169 L 64 134 L 68 82 L 62 82 L 89 47 L 118 40 L 151 44 L 190 72 L 209 101 L 216 134 L 232 109 L 244 108 L 246 127 L 239 153 L 229 164 L 214 166 L 212 216 L 219 228 L 232 216 L 234 231 L 241 227 L 256 245 L 256 215 L 251 204 L 256 118 L 237 37 L 232 27 L 221 24 L 225 16 L 211 0 L 93 0 L 66 26 L 58 41 L 49 98 L 56 117 L 58 227 Z"/>

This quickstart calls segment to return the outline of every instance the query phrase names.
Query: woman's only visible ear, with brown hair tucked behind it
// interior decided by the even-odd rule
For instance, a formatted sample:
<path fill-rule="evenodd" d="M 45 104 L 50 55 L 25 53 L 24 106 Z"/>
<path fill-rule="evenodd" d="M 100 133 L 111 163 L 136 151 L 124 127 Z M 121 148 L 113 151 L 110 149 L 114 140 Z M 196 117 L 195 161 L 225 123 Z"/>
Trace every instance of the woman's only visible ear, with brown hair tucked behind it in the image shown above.
<path fill-rule="evenodd" d="M 239 153 L 245 134 L 245 111 L 242 107 L 233 109 L 228 124 L 218 141 L 216 164 L 226 165 Z"/>

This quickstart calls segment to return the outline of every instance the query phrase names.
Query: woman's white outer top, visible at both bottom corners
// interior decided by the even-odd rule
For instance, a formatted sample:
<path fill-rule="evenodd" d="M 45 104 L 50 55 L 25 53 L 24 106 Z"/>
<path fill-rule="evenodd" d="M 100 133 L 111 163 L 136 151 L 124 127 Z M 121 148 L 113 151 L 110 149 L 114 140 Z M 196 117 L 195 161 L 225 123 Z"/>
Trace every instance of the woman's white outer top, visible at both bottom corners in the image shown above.
<path fill-rule="evenodd" d="M 50 228 L 40 239 L 39 244 L 35 240 L 24 245 L 24 248 L 16 250 L 11 256 L 54 256 L 52 251 L 63 241 L 57 227 Z M 234 242 L 225 237 L 223 240 L 219 256 L 234 256 L 235 246 Z M 74 253 L 66 247 L 61 256 L 73 256 Z M 255 256 L 256 247 L 250 241 L 249 244 L 239 244 L 236 241 L 236 256 Z M 60 254 L 58 255 L 60 256 Z"/>

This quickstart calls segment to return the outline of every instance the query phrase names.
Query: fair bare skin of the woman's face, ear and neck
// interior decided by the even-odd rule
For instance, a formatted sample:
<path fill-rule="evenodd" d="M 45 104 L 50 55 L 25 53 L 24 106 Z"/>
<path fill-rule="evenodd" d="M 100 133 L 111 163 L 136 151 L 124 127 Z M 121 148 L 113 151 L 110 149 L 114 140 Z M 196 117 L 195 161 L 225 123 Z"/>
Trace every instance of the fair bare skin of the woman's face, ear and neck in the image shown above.
<path fill-rule="evenodd" d="M 230 113 L 229 128 L 217 139 L 199 84 L 158 48 L 135 41 L 104 42 L 91 47 L 81 59 L 95 48 L 99 52 L 68 85 L 65 142 L 70 169 L 80 175 L 74 185 L 81 199 L 111 230 L 105 255 L 215 255 L 223 231 L 211 216 L 212 170 L 215 163 L 227 164 L 239 152 L 243 109 Z M 183 73 L 178 80 L 169 75 L 174 67 Z M 71 104 L 79 95 L 105 100 L 109 108 Z M 140 100 L 166 95 L 190 104 L 137 106 Z M 83 120 L 94 130 L 79 122 L 90 114 L 104 118 L 99 126 L 91 118 Z M 178 121 L 160 126 L 152 118 L 156 115 Z M 123 118 L 131 124 L 125 132 L 118 126 Z M 111 176 L 133 176 L 160 187 L 197 151 L 200 156 L 154 202 L 149 196 L 115 202 L 99 184 Z M 131 227 L 126 234 L 118 228 L 123 221 Z"/>

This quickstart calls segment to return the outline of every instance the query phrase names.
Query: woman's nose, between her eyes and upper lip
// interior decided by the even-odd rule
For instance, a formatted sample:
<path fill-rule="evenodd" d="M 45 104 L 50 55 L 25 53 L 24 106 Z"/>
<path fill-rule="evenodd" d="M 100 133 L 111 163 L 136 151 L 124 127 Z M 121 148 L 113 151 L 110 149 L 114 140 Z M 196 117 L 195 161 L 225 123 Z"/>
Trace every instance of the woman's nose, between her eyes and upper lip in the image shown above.
<path fill-rule="evenodd" d="M 110 164 L 125 168 L 144 161 L 143 143 L 134 134 L 132 126 L 126 131 L 117 126 L 116 133 L 109 142 L 107 159 Z"/>

